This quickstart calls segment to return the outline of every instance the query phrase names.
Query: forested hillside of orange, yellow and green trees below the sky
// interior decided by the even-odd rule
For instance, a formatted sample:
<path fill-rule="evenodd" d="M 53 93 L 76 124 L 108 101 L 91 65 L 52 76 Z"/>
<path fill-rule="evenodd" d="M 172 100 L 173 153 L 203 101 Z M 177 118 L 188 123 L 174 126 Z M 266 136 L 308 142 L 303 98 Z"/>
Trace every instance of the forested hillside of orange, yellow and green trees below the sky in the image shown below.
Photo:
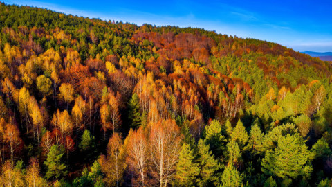
<path fill-rule="evenodd" d="M 1 186 L 331 186 L 331 63 L 0 3 Z"/>

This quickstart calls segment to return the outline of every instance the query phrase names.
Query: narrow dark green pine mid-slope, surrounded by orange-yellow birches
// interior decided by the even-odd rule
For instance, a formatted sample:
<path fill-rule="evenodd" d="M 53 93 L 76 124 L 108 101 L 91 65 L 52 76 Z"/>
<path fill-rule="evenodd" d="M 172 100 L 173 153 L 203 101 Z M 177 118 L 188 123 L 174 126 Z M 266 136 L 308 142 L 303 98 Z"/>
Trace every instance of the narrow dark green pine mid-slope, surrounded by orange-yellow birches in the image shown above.
<path fill-rule="evenodd" d="M 129 101 L 129 119 L 131 120 L 130 127 L 134 129 L 139 127 L 142 121 L 140 115 L 140 99 L 136 93 L 131 96 L 131 100 Z"/>

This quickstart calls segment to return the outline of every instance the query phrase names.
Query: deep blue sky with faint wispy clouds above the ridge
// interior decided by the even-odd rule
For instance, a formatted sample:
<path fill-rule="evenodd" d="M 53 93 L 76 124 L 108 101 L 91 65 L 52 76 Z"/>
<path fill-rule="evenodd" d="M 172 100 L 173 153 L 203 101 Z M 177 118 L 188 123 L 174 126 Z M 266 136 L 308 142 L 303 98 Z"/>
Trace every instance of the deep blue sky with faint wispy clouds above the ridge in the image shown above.
<path fill-rule="evenodd" d="M 332 1 L 6 0 L 84 17 L 142 25 L 192 26 L 252 37 L 295 51 L 332 51 Z"/>

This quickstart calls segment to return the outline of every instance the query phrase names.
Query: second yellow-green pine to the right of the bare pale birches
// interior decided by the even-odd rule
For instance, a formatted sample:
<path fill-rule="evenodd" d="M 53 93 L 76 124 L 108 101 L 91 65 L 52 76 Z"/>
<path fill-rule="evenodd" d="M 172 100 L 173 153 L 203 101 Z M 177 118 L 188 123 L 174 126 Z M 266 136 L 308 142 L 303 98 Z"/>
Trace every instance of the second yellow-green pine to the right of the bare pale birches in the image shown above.
<path fill-rule="evenodd" d="M 199 140 L 198 145 L 199 152 L 199 168 L 200 168 L 200 177 L 198 179 L 198 186 L 210 186 L 216 181 L 215 172 L 219 169 L 219 163 L 212 152 L 209 150 L 209 145 L 203 140 Z"/>

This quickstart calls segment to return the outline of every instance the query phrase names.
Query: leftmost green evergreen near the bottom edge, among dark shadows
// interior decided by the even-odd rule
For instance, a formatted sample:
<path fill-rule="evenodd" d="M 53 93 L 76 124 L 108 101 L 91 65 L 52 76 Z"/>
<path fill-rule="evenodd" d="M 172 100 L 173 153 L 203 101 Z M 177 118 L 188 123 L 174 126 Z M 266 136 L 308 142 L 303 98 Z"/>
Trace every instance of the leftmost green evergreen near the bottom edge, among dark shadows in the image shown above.
<path fill-rule="evenodd" d="M 58 179 L 66 175 L 66 165 L 62 163 L 62 157 L 64 156 L 64 148 L 59 145 L 52 145 L 48 154 L 47 160 L 44 162 L 47 171 L 45 177 L 47 179 Z"/>

